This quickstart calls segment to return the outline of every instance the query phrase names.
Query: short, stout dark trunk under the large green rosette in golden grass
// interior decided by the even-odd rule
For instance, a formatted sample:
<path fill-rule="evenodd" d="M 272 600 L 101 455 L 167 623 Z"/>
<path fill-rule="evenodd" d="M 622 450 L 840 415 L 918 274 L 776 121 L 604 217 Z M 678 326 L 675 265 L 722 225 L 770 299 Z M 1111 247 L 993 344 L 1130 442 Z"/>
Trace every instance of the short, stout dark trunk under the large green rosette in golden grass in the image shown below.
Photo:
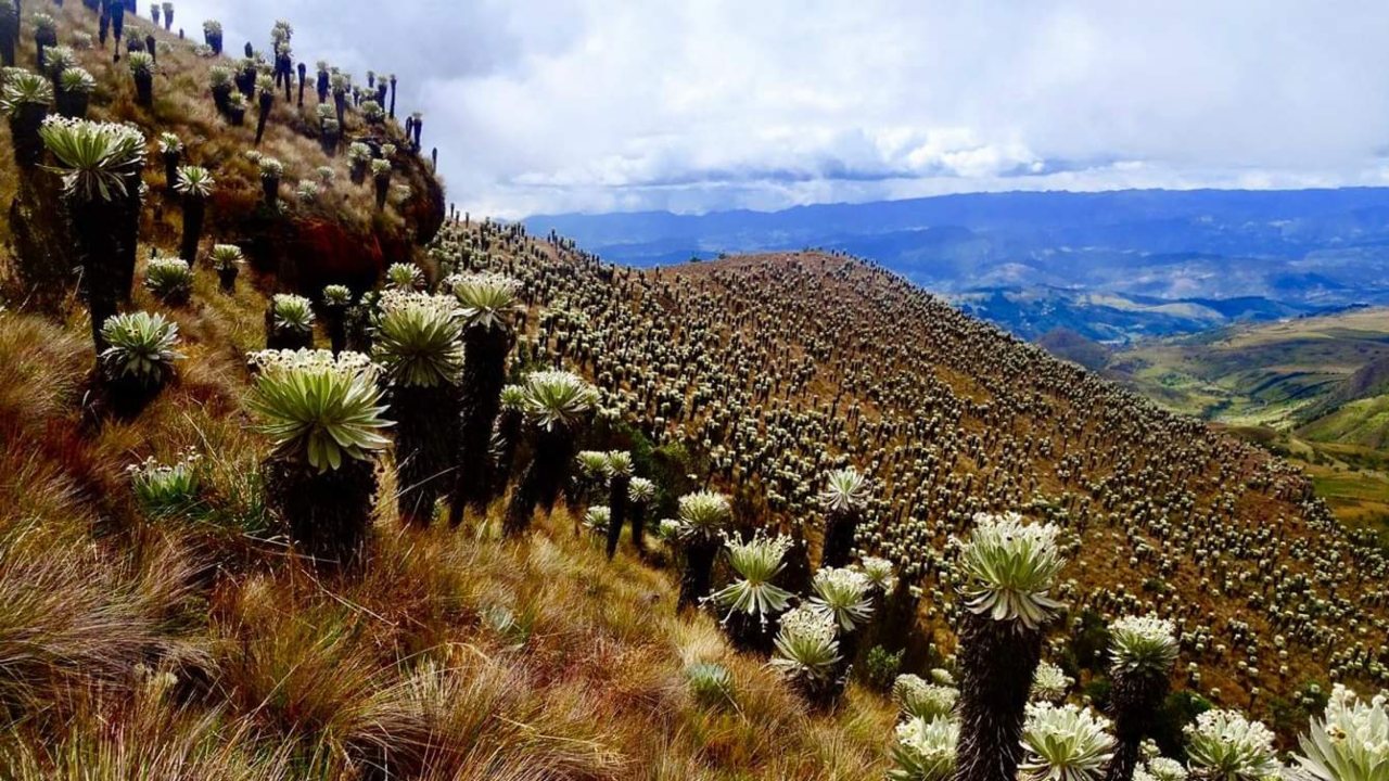
<path fill-rule="evenodd" d="M 371 529 L 376 472 L 371 461 L 347 459 L 326 472 L 304 464 L 265 461 L 265 495 L 299 553 L 322 568 L 363 560 Z"/>

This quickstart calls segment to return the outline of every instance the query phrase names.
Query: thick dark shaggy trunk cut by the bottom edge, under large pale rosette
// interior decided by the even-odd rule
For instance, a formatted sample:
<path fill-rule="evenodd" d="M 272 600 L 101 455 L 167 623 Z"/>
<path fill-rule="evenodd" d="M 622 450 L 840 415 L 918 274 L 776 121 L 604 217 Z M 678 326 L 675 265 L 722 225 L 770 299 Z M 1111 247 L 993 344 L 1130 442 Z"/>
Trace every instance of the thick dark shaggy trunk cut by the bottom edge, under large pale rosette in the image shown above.
<path fill-rule="evenodd" d="M 1040 631 L 965 611 L 956 660 L 960 671 L 956 781 L 1014 781 L 1028 692 L 1040 660 Z"/>

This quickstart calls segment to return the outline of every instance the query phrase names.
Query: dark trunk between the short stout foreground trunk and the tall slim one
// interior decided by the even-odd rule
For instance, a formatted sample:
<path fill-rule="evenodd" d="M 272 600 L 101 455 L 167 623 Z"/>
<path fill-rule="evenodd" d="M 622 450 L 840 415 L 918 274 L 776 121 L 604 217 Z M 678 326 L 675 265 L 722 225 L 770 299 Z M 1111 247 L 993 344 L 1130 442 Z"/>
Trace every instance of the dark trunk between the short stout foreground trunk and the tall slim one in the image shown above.
<path fill-rule="evenodd" d="M 392 411 L 400 520 L 428 527 L 435 503 L 450 482 L 449 471 L 458 450 L 458 388 L 396 388 Z"/>

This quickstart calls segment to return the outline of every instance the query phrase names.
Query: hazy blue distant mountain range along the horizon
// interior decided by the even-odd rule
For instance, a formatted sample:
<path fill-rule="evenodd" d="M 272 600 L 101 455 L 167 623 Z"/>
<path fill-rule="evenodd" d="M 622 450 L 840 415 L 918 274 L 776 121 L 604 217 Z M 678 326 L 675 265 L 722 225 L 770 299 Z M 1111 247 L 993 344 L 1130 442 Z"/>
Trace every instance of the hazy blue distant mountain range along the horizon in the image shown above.
<path fill-rule="evenodd" d="M 1389 188 L 975 193 L 525 222 L 631 265 L 846 252 L 1029 339 L 1070 328 L 1124 342 L 1389 303 Z"/>

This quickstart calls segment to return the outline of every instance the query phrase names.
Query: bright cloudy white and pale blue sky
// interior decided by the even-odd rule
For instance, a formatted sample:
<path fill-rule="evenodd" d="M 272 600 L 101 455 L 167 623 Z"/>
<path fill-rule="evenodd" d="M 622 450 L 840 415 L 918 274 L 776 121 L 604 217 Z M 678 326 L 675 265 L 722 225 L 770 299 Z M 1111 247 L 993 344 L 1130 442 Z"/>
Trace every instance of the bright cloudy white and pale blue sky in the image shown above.
<path fill-rule="evenodd" d="M 176 1 L 204 18 L 397 74 L 450 200 L 501 218 L 1389 185 L 1382 0 Z"/>

